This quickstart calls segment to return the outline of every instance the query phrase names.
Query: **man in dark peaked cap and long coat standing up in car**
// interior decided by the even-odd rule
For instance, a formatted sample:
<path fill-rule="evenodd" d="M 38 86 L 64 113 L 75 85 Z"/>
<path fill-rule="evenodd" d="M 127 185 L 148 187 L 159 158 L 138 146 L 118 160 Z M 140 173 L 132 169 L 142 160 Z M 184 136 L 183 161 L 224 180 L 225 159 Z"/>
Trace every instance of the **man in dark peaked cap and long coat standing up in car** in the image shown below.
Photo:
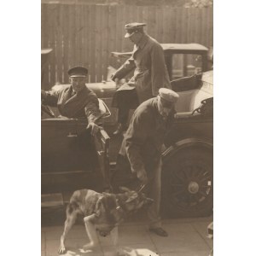
<path fill-rule="evenodd" d="M 113 81 L 119 83 L 133 69 L 134 75 L 123 84 L 113 96 L 113 107 L 119 108 L 117 135 L 125 129 L 129 110 L 158 95 L 160 87 L 169 87 L 170 80 L 166 69 L 164 51 L 160 44 L 143 31 L 145 23 L 125 25 L 125 38 L 134 44 L 134 49 L 124 65 L 113 73 Z"/>

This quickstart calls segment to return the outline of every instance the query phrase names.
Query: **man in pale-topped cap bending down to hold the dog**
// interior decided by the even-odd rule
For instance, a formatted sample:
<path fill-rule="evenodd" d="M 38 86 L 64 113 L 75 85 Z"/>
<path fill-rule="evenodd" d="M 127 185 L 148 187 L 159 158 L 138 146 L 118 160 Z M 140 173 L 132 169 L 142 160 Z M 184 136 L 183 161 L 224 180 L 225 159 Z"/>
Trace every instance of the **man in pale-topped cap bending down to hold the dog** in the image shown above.
<path fill-rule="evenodd" d="M 127 181 L 131 182 L 131 173 L 145 184 L 148 197 L 154 200 L 148 208 L 149 230 L 158 236 L 168 236 L 160 221 L 161 152 L 176 113 L 177 100 L 176 92 L 160 88 L 158 96 L 143 102 L 135 110 L 119 150 L 113 177 L 114 188 L 127 186 Z M 138 186 L 136 181 L 132 184 Z"/>

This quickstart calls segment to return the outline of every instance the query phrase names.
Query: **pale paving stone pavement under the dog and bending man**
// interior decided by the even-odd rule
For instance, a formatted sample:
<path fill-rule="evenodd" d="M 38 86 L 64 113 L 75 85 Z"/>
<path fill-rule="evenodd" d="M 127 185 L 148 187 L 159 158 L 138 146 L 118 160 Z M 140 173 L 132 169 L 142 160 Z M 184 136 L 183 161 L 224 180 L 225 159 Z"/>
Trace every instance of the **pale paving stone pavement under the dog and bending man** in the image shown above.
<path fill-rule="evenodd" d="M 213 241 L 207 238 L 207 218 L 173 218 L 163 220 L 162 226 L 169 236 L 160 237 L 148 231 L 143 221 L 125 222 L 119 226 L 119 247 L 126 256 L 208 256 Z M 41 255 L 56 256 L 63 226 L 43 226 L 41 229 Z M 63 256 L 114 256 L 111 237 L 99 236 L 100 246 L 93 251 L 84 251 L 89 241 L 83 224 L 70 230 L 67 253 Z"/>

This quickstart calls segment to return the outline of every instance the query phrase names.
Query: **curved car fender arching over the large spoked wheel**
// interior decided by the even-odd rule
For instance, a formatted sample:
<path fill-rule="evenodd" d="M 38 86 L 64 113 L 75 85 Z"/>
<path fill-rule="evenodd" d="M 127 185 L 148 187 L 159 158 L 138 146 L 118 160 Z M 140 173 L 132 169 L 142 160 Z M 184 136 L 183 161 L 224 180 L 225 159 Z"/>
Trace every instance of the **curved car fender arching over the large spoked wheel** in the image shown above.
<path fill-rule="evenodd" d="M 177 154 L 183 148 L 206 148 L 209 150 L 213 149 L 213 142 L 206 138 L 200 137 L 189 137 L 173 143 L 171 146 L 166 148 L 162 153 L 163 161 L 169 159 L 174 154 Z"/>

